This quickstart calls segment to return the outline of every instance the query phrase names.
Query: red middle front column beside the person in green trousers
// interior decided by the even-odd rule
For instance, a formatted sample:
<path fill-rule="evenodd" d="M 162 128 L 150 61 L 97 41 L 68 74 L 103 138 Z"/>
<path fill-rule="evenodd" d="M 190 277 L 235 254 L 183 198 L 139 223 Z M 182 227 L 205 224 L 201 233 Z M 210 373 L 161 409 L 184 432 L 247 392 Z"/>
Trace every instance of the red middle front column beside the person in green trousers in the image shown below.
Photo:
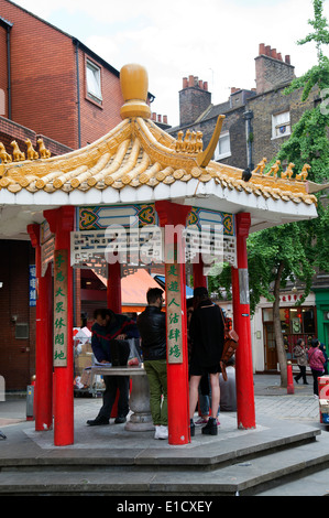
<path fill-rule="evenodd" d="M 165 230 L 165 255 L 167 249 L 173 246 L 174 255 L 184 251 L 183 236 L 178 228 L 185 227 L 187 214 L 190 207 L 177 205 L 167 201 L 155 202 L 155 209 L 158 214 L 162 227 L 173 225 L 177 227 L 178 236 L 172 233 L 166 235 Z M 169 237 L 168 237 L 169 236 Z M 168 442 L 169 444 L 187 444 L 190 442 L 189 432 L 189 389 L 188 389 L 188 354 L 187 354 L 187 321 L 186 321 L 186 278 L 185 262 L 175 263 L 179 279 L 179 293 L 182 305 L 182 363 L 169 363 L 167 350 L 167 406 L 168 406 Z M 168 311 L 168 291 L 166 283 L 166 312 Z"/>

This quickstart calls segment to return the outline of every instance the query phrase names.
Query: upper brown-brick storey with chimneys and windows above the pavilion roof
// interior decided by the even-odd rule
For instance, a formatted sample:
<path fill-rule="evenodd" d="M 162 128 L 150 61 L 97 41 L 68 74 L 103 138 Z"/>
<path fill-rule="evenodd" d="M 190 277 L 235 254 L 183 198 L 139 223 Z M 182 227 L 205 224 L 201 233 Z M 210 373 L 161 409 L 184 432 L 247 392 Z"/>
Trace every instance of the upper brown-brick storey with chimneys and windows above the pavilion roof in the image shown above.
<path fill-rule="evenodd" d="M 292 126 L 301 114 L 314 106 L 317 93 L 306 102 L 300 91 L 285 96 L 284 89 L 295 77 L 295 68 L 288 55 L 270 45 L 260 44 L 255 57 L 255 88 L 231 88 L 229 99 L 211 104 L 208 84 L 198 77 L 183 78 L 179 91 L 179 126 L 168 129 L 174 137 L 187 129 L 204 133 L 208 144 L 219 115 L 224 115 L 222 131 L 213 159 L 218 162 L 244 169 L 267 158 L 275 157 L 283 141 L 290 134 Z"/>

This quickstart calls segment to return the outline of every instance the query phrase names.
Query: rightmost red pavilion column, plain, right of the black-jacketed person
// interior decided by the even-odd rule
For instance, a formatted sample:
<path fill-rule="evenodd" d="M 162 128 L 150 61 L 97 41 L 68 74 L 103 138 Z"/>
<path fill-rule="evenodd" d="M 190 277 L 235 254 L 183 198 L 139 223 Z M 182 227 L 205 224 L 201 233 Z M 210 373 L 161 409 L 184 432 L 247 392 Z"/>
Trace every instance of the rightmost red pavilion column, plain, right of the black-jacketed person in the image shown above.
<path fill-rule="evenodd" d="M 239 335 L 235 353 L 238 428 L 255 428 L 255 406 L 250 327 L 246 238 L 250 214 L 235 216 L 238 268 L 232 268 L 233 325 Z"/>

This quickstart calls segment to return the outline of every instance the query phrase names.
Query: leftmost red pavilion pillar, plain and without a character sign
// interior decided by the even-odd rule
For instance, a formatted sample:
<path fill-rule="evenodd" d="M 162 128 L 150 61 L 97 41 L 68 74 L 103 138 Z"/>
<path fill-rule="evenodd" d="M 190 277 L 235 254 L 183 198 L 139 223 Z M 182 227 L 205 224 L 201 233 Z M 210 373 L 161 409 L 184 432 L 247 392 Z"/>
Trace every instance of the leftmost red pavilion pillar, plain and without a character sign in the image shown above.
<path fill-rule="evenodd" d="M 35 322 L 35 430 L 50 430 L 53 425 L 53 332 L 52 332 L 52 269 L 42 277 L 40 225 L 29 225 L 32 246 L 35 248 L 37 282 Z"/>

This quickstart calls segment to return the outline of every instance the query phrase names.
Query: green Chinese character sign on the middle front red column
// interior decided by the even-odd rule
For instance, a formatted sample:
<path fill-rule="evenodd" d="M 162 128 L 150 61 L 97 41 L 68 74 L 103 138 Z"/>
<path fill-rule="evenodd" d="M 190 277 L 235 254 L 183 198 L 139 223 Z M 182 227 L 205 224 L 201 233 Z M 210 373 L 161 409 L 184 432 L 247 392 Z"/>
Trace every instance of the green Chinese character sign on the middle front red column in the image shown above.
<path fill-rule="evenodd" d="M 166 265 L 166 315 L 168 364 L 183 364 L 180 270 Z"/>

